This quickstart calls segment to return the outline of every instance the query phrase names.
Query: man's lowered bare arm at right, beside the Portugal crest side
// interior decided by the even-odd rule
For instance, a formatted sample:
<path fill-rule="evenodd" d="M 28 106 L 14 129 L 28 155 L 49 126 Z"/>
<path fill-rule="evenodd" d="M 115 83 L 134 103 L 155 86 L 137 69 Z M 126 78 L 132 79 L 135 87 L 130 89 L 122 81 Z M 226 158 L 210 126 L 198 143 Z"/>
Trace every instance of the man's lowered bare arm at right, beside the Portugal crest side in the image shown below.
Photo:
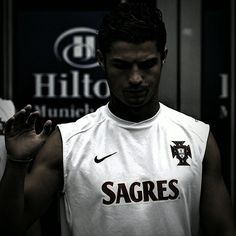
<path fill-rule="evenodd" d="M 220 161 L 219 149 L 210 134 L 203 161 L 201 223 L 204 235 L 235 236 L 233 206 L 221 174 Z"/>

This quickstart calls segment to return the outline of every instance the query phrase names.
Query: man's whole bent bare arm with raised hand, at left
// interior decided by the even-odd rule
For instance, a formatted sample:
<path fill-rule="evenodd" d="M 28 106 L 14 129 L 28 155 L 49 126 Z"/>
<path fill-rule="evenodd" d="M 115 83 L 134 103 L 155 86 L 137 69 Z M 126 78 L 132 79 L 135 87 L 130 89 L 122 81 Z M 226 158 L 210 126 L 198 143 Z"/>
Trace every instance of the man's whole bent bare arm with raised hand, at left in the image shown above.
<path fill-rule="evenodd" d="M 48 127 L 36 134 L 37 116 L 28 106 L 6 126 L 6 147 L 11 158 L 27 160 L 37 153 L 27 175 L 27 163 L 7 160 L 0 182 L 0 229 L 6 235 L 24 232 L 44 213 L 62 185 L 60 134 L 56 130 L 47 141 Z"/>

